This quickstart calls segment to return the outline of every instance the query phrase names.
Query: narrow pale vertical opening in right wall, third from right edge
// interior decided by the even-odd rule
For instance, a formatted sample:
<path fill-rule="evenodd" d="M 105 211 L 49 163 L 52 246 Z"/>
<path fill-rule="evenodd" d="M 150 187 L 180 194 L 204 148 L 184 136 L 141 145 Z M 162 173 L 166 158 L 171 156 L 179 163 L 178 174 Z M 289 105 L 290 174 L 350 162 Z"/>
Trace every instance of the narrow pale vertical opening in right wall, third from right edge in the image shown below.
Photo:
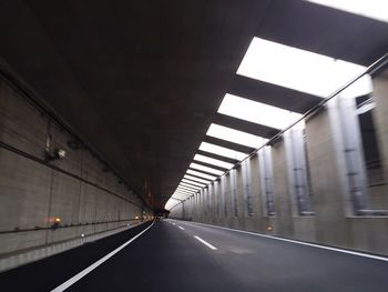
<path fill-rule="evenodd" d="M 261 175 L 261 185 L 262 194 L 264 199 L 264 212 L 270 217 L 275 215 L 275 201 L 274 201 L 274 175 L 272 168 L 272 157 L 270 157 L 270 147 L 264 147 L 258 151 L 259 157 L 259 175 Z"/>

